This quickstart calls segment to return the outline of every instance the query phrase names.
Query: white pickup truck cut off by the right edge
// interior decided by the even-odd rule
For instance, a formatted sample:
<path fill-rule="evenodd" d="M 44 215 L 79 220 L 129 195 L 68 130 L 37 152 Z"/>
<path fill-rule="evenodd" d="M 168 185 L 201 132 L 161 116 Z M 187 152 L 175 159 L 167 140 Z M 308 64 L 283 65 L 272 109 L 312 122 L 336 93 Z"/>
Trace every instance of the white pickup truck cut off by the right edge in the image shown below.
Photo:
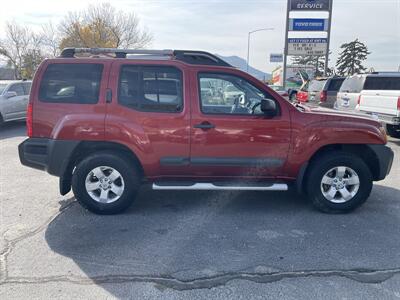
<path fill-rule="evenodd" d="M 368 75 L 357 109 L 384 122 L 389 135 L 400 138 L 400 72 Z"/>

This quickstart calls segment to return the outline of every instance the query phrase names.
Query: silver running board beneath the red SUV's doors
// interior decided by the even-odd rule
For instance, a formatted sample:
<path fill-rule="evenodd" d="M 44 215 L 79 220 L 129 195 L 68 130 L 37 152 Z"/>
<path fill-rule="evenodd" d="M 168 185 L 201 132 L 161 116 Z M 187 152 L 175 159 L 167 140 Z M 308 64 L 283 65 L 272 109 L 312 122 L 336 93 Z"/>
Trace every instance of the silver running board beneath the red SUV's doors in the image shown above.
<path fill-rule="evenodd" d="M 190 183 L 179 185 L 166 184 L 166 183 L 153 183 L 153 190 L 197 190 L 197 191 L 287 191 L 288 186 L 284 183 L 274 183 L 266 185 L 249 185 L 249 184 L 239 184 L 239 185 L 223 185 L 214 183 Z"/>

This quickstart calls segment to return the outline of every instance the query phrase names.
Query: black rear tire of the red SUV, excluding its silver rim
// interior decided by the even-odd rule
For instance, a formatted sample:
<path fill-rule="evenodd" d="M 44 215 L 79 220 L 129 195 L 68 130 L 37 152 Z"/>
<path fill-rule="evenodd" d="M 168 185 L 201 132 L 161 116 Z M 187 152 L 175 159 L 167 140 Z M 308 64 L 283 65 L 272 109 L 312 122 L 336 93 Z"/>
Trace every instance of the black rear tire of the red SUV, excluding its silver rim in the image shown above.
<path fill-rule="evenodd" d="M 85 180 L 87 175 L 96 167 L 108 166 L 117 170 L 124 181 L 124 190 L 118 200 L 111 203 L 100 203 L 92 199 L 86 191 Z M 140 176 L 129 157 L 110 151 L 93 154 L 82 160 L 72 176 L 72 190 L 77 201 L 93 213 L 112 215 L 126 210 L 135 200 L 140 187 Z"/>

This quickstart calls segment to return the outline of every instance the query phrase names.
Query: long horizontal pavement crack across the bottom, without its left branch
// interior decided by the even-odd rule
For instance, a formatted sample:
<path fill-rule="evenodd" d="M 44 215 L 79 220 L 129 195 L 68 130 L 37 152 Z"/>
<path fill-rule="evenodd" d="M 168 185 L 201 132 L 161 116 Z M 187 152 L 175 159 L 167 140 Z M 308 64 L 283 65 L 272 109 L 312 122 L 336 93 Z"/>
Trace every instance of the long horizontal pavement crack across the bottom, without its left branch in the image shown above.
<path fill-rule="evenodd" d="M 256 283 L 271 283 L 282 279 L 306 277 L 344 277 L 361 283 L 382 283 L 394 275 L 400 274 L 400 268 L 387 270 L 309 270 L 273 273 L 224 273 L 210 277 L 200 277 L 193 280 L 180 280 L 168 275 L 110 275 L 96 277 L 79 276 L 49 276 L 49 277 L 10 277 L 0 283 L 5 284 L 41 284 L 48 282 L 68 282 L 80 285 L 118 284 L 118 283 L 155 283 L 173 290 L 211 289 L 224 286 L 232 280 L 247 280 Z"/>

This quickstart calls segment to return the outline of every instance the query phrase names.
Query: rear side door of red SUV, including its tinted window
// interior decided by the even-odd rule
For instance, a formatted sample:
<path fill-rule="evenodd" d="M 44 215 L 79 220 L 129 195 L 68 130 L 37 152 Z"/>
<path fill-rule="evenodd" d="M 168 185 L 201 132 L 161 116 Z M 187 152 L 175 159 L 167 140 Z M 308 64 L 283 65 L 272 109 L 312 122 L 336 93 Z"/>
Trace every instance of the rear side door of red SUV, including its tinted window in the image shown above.
<path fill-rule="evenodd" d="M 106 140 L 130 148 L 147 178 L 188 172 L 190 94 L 185 74 L 184 67 L 166 62 L 126 59 L 112 65 Z"/>

